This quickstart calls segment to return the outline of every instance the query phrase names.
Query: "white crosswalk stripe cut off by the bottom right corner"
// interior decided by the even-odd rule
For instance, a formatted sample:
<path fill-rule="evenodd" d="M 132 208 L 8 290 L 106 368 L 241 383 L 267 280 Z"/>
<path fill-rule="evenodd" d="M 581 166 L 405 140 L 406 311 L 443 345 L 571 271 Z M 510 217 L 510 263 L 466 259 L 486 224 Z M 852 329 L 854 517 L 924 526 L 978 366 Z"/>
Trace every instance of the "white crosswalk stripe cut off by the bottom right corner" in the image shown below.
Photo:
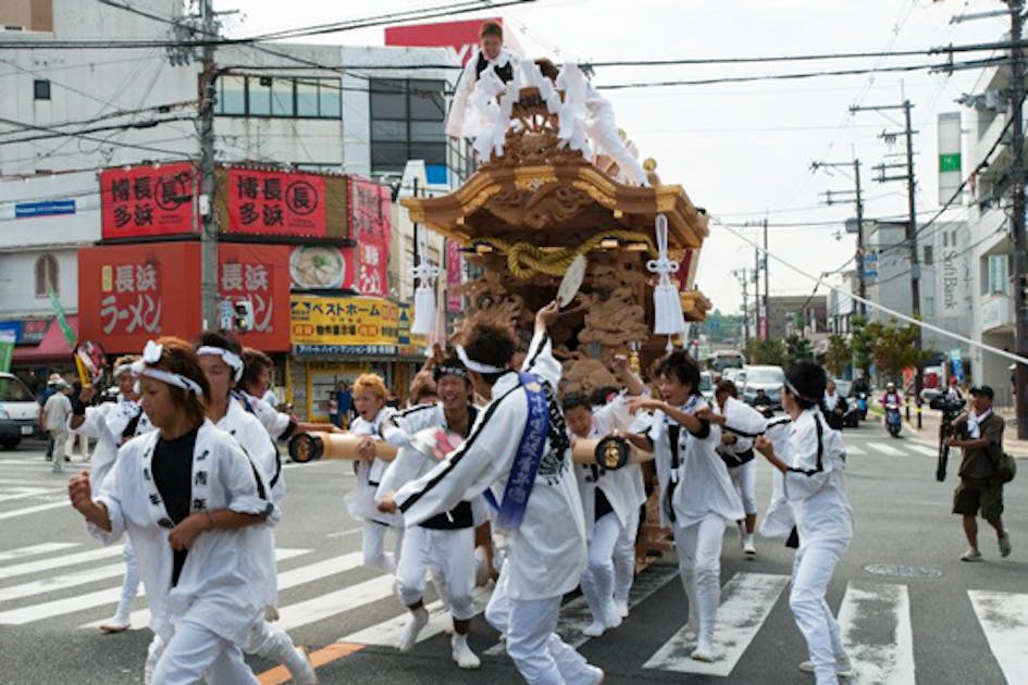
<path fill-rule="evenodd" d="M 967 590 L 967 596 L 1006 682 L 1023 682 L 1028 673 L 1028 595 Z"/>

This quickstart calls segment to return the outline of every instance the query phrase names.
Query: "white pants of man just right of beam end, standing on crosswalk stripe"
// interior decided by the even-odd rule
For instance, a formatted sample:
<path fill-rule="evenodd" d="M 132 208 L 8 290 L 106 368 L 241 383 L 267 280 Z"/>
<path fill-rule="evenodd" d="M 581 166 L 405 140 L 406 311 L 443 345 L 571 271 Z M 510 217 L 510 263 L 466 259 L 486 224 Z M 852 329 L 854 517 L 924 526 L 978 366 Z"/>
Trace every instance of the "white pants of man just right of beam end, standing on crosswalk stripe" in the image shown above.
<path fill-rule="evenodd" d="M 714 639 L 721 600 L 721 539 L 724 519 L 708 514 L 698 523 L 674 524 L 678 568 L 689 599 L 689 623 L 701 640 Z"/>

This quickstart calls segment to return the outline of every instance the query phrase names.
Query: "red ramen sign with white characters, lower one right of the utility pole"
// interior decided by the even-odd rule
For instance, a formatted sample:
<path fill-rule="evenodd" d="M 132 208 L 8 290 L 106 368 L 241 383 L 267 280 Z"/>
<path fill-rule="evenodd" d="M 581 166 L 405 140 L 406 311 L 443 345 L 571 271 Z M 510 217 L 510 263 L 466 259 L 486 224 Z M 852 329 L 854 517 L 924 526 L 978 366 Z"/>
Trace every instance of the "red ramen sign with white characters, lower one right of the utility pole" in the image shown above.
<path fill-rule="evenodd" d="M 223 303 L 249 300 L 253 329 L 243 344 L 270 352 L 289 349 L 289 248 L 280 245 L 224 242 L 218 248 Z"/>

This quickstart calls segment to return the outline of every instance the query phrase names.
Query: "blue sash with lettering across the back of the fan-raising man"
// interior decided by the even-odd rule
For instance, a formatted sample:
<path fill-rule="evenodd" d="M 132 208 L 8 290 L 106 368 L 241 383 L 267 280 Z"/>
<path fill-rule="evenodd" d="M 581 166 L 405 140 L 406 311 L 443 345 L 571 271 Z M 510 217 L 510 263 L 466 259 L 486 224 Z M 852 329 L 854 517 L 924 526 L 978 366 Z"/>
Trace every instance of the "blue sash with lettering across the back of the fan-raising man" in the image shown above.
<path fill-rule="evenodd" d="M 546 437 L 549 434 L 549 407 L 543 394 L 543 382 L 538 376 L 530 373 L 519 373 L 518 378 L 529 402 L 529 416 L 507 477 L 503 505 L 497 505 L 491 489 L 485 490 L 485 500 L 498 512 L 497 527 L 509 531 L 518 530 L 524 519 L 524 510 L 529 505 L 529 496 L 532 495 L 535 474 L 538 472 Z"/>

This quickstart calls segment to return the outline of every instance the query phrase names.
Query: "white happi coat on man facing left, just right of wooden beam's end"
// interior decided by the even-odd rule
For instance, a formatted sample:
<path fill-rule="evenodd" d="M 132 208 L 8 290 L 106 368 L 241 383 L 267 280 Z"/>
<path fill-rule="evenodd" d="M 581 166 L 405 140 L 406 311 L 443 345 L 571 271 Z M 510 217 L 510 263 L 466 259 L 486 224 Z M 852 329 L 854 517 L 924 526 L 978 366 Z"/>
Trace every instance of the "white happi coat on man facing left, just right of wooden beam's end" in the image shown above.
<path fill-rule="evenodd" d="M 685 404 L 694 412 L 706 403 L 697 396 Z M 683 408 L 683 411 L 685 411 Z M 671 446 L 668 424 L 670 419 L 662 411 L 643 414 L 632 425 L 632 431 L 649 437 L 654 445 L 654 461 L 657 465 L 657 479 L 660 483 L 660 525 L 670 527 L 667 499 L 668 484 L 677 478 L 671 506 L 674 508 L 673 524 L 679 527 L 695 525 L 714 514 L 731 523 L 745 516 L 742 500 L 728 466 L 717 453 L 721 440 L 720 426 L 710 424 L 710 432 L 704 438 L 692 435 L 685 426 L 679 431 L 679 468 L 671 469 Z"/>

